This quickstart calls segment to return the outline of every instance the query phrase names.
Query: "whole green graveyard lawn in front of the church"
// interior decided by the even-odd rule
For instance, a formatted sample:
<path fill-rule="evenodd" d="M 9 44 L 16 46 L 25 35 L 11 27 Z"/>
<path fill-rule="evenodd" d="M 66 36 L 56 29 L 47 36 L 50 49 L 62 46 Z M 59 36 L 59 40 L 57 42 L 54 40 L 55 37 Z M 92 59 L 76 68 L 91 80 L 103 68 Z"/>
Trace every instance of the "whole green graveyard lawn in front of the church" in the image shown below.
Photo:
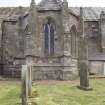
<path fill-rule="evenodd" d="M 79 80 L 72 82 L 37 82 L 29 101 L 33 105 L 105 105 L 105 79 L 91 79 L 93 91 L 77 88 Z M 0 105 L 21 105 L 21 83 L 0 82 Z M 36 104 L 35 104 L 36 103 Z"/>

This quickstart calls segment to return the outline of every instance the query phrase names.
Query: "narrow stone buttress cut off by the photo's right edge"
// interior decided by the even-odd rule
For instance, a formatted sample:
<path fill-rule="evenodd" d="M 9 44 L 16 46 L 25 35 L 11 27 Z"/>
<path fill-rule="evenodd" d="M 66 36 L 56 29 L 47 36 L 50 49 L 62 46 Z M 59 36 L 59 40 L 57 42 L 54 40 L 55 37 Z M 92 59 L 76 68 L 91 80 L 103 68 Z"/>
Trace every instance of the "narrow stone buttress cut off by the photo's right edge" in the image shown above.
<path fill-rule="evenodd" d="M 100 28 L 101 28 L 101 42 L 102 42 L 102 49 L 105 52 L 105 12 L 102 11 L 100 14 Z"/>

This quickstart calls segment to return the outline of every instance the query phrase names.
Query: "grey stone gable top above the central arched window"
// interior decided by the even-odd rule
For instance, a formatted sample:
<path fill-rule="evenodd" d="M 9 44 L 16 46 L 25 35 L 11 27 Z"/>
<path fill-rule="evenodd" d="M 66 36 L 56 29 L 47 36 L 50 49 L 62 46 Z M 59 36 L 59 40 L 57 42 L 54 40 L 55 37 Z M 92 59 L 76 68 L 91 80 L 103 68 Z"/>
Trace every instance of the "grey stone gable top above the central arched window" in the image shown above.
<path fill-rule="evenodd" d="M 39 10 L 59 10 L 61 7 L 61 0 L 42 0 L 39 5 Z"/>

